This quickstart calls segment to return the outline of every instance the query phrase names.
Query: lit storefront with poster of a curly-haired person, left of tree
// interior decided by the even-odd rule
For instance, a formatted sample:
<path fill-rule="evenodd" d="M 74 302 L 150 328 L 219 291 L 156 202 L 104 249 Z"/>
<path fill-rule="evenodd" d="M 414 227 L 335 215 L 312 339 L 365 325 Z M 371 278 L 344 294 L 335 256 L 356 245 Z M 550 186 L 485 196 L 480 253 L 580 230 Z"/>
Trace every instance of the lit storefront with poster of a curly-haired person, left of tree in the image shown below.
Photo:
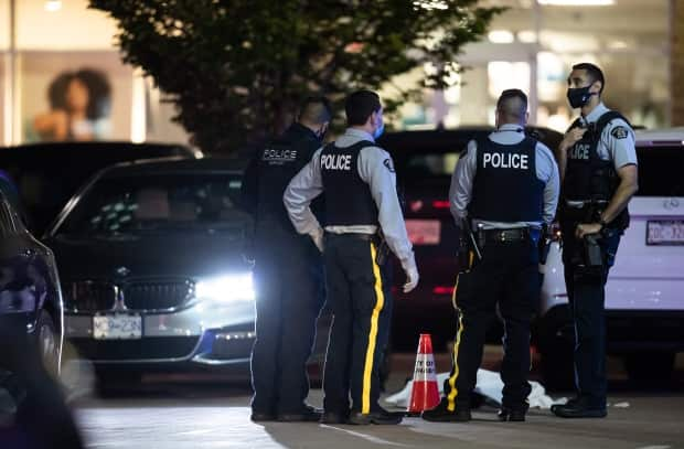
<path fill-rule="evenodd" d="M 115 21 L 87 6 L 0 0 L 0 141 L 186 142 L 173 107 L 121 62 Z"/>

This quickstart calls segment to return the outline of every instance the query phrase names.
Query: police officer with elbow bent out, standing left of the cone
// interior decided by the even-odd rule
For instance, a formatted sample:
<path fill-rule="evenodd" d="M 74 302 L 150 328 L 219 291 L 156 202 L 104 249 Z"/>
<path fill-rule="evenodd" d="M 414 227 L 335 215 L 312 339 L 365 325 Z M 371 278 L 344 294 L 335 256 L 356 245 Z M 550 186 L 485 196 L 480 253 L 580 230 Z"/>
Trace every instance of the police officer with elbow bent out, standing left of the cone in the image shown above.
<path fill-rule="evenodd" d="M 383 132 L 377 94 L 359 90 L 345 101 L 349 128 L 319 150 L 292 180 L 285 204 L 297 231 L 323 248 L 323 229 L 309 202 L 325 192 L 324 260 L 328 301 L 334 321 L 323 378 L 323 423 L 398 424 L 402 417 L 381 408 L 378 368 L 389 325 L 384 258 L 377 235 L 406 271 L 404 291 L 418 284 L 389 154 L 375 145 Z M 351 389 L 351 410 L 350 410 Z"/>

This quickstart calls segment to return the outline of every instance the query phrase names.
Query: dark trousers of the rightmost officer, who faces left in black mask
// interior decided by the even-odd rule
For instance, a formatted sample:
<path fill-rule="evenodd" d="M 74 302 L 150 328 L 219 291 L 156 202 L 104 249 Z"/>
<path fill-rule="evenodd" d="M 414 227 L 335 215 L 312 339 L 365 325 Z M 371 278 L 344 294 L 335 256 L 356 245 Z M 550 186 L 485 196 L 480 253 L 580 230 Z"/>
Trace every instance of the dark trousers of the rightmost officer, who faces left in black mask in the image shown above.
<path fill-rule="evenodd" d="M 606 407 L 606 281 L 614 264 L 620 232 L 599 239 L 603 271 L 587 275 L 578 267 L 583 242 L 575 238 L 575 223 L 562 223 L 565 284 L 575 324 L 575 384 L 591 406 Z"/>

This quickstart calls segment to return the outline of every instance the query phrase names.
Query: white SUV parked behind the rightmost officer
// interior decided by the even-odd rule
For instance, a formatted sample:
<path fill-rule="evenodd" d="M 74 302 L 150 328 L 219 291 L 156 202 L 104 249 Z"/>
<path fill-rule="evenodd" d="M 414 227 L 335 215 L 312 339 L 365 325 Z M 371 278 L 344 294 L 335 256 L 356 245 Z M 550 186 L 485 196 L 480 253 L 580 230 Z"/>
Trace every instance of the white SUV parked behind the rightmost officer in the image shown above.
<path fill-rule="evenodd" d="M 637 131 L 639 192 L 606 286 L 608 351 L 637 379 L 670 376 L 684 351 L 684 128 Z M 560 246 L 542 287 L 537 344 L 551 386 L 571 382 L 574 332 Z"/>

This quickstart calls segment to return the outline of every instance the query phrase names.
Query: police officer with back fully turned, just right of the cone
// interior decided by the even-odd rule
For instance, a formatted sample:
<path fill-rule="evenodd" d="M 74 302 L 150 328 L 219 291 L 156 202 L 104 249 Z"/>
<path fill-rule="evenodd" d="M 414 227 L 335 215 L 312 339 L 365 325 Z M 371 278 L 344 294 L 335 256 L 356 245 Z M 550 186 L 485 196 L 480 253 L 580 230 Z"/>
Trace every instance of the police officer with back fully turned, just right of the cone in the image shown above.
<path fill-rule="evenodd" d="M 555 215 L 559 189 L 553 153 L 525 136 L 526 121 L 527 96 L 519 89 L 504 90 L 496 103 L 496 130 L 468 143 L 451 179 L 451 213 L 461 232 L 471 234 L 474 265 L 457 277 L 453 366 L 440 404 L 423 413 L 426 420 L 471 419 L 488 318 L 496 302 L 505 331 L 499 418 L 525 420 L 530 322 L 539 298 L 536 245 L 541 228 Z"/>

